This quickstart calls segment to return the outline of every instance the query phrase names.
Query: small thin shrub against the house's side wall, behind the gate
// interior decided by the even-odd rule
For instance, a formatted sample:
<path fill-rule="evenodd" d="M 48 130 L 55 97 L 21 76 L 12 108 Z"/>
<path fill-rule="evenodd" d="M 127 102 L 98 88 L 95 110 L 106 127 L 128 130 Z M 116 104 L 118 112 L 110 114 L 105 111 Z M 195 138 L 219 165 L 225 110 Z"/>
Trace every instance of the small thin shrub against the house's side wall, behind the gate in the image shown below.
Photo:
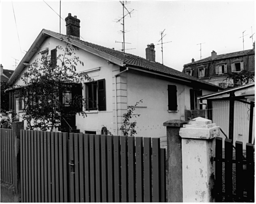
<path fill-rule="evenodd" d="M 127 108 L 127 113 L 123 114 L 123 125 L 121 126 L 120 130 L 123 132 L 124 136 L 134 136 L 134 134 L 137 134 L 137 131 L 135 130 L 135 127 L 137 125 L 137 122 L 130 122 L 130 119 L 137 116 L 139 117 L 139 114 L 133 114 L 135 111 L 135 107 L 139 104 L 142 103 L 142 100 L 139 102 L 136 102 L 134 106 L 128 106 Z"/>

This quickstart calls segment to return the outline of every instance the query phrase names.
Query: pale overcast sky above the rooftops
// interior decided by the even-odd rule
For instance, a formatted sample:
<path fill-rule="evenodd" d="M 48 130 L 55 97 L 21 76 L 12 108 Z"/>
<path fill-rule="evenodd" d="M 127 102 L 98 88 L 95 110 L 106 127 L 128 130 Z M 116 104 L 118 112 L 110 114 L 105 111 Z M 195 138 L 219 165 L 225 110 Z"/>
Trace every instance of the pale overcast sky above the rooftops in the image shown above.
<path fill-rule="evenodd" d="M 45 2 L 60 14 L 59 0 Z M 15 69 L 15 59 L 24 57 L 42 29 L 60 33 L 60 17 L 45 2 L 1 1 L 0 63 L 4 69 Z M 254 1 L 131 1 L 126 7 L 134 9 L 131 18 L 125 18 L 125 42 L 131 43 L 125 45 L 130 49 L 126 52 L 145 58 L 147 44 L 160 43 L 160 31 L 165 29 L 163 42 L 172 42 L 163 44 L 163 63 L 173 69 L 182 71 L 192 58 L 199 60 L 199 43 L 204 43 L 202 59 L 212 50 L 217 55 L 242 51 L 243 31 L 244 50 L 252 49 Z M 68 13 L 81 20 L 80 35 L 85 41 L 122 48 L 121 43 L 115 43 L 123 40 L 118 32 L 122 25 L 115 22 L 123 15 L 119 1 L 61 0 L 61 17 L 65 20 Z M 61 33 L 66 34 L 64 20 Z M 155 51 L 156 61 L 162 63 L 161 45 L 156 45 Z"/>

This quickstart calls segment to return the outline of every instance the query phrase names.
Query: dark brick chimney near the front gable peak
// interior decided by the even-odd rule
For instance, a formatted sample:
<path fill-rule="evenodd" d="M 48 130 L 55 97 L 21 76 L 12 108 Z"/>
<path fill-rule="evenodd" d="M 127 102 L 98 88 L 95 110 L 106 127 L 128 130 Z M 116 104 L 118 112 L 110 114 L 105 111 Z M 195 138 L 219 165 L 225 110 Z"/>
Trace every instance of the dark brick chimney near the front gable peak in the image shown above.
<path fill-rule="evenodd" d="M 67 35 L 75 39 L 80 39 L 80 20 L 69 13 L 65 18 Z"/>

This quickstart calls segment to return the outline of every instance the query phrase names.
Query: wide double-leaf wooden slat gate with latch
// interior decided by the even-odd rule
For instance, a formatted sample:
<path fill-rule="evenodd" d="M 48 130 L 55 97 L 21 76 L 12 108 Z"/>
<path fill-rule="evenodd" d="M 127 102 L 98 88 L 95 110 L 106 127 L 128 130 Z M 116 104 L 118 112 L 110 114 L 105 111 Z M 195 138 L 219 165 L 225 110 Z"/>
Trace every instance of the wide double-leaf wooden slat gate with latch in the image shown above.
<path fill-rule="evenodd" d="M 20 149 L 22 202 L 166 201 L 159 138 L 22 130 Z"/>

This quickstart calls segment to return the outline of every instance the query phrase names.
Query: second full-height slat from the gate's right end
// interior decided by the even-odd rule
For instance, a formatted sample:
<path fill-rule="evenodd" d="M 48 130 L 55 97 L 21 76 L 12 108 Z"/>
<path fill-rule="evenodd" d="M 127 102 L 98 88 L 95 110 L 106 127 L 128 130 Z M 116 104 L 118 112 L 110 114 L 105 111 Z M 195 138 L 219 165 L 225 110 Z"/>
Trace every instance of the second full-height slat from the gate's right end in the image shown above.
<path fill-rule="evenodd" d="M 151 138 L 144 137 L 144 202 L 152 202 Z"/>

